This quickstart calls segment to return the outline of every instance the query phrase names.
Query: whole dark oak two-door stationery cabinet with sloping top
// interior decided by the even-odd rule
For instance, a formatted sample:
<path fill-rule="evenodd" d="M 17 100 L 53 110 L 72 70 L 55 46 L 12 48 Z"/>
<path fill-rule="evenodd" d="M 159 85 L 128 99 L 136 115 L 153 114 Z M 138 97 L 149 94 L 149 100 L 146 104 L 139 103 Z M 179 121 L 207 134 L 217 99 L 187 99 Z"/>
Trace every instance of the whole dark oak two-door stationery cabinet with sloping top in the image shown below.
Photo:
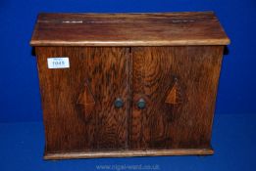
<path fill-rule="evenodd" d="M 40 14 L 44 158 L 212 154 L 229 43 L 212 12 Z"/>

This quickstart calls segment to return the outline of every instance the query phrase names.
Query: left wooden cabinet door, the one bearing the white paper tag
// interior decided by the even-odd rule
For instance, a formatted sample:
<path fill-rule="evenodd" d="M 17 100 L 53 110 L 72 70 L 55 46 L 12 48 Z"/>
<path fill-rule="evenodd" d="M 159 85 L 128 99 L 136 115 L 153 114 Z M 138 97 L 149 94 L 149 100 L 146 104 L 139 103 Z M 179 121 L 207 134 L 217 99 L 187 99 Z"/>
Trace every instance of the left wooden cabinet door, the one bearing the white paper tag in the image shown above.
<path fill-rule="evenodd" d="M 127 149 L 128 48 L 37 47 L 36 55 L 46 153 Z M 48 68 L 57 57 L 70 67 Z"/>

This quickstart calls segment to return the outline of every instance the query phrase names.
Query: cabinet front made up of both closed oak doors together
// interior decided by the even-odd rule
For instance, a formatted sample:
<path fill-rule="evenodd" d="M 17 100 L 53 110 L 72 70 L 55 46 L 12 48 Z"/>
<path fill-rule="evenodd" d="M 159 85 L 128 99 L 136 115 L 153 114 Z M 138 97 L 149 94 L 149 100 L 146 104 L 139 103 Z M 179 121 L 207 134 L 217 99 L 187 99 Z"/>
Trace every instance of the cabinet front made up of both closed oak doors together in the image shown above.
<path fill-rule="evenodd" d="M 210 149 L 222 53 L 222 46 L 36 47 L 46 153 Z M 68 66 L 50 67 L 49 59 L 64 58 Z"/>

